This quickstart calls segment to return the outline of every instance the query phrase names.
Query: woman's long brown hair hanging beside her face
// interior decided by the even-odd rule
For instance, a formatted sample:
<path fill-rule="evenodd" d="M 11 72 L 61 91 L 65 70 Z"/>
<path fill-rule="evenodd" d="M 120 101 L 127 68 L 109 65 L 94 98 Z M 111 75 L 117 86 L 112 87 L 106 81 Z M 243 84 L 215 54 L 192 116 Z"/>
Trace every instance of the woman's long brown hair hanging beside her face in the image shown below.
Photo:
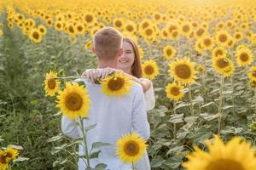
<path fill-rule="evenodd" d="M 138 51 L 137 42 L 135 42 L 129 37 L 124 37 L 123 42 L 130 43 L 134 52 L 134 62 L 131 65 L 131 74 L 134 77 L 141 78 L 143 76 L 143 69 L 142 69 L 142 62 L 141 62 L 141 57 Z"/>

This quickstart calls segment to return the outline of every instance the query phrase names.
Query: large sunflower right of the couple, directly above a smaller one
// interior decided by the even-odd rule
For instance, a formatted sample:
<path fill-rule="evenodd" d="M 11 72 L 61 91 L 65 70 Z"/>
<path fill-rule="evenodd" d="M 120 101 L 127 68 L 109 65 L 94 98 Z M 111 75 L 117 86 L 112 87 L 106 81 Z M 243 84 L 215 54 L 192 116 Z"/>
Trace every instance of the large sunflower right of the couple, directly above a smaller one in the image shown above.
<path fill-rule="evenodd" d="M 192 84 L 195 82 L 195 62 L 183 58 L 172 61 L 169 65 L 169 74 L 177 82 Z"/>

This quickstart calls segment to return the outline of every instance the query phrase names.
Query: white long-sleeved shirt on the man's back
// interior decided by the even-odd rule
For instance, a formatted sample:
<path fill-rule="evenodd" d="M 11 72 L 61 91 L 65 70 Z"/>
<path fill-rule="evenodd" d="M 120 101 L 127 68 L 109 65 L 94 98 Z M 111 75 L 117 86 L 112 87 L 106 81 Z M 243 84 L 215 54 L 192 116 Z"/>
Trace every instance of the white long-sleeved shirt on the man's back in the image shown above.
<path fill-rule="evenodd" d="M 129 95 L 123 98 L 109 97 L 102 93 L 102 85 L 94 84 L 86 79 L 77 79 L 76 82 L 83 81 L 90 95 L 90 111 L 88 118 L 84 120 L 84 126 L 96 124 L 96 127 L 87 133 L 87 145 L 89 150 L 94 142 L 104 142 L 111 144 L 102 147 L 99 158 L 90 160 L 90 167 L 95 167 L 98 163 L 108 165 L 111 170 L 130 170 L 131 165 L 119 161 L 115 154 L 116 141 L 127 133 L 136 132 L 144 139 L 150 136 L 150 127 L 147 120 L 147 112 L 143 88 L 137 82 L 131 87 Z M 67 136 L 78 139 L 82 137 L 79 127 L 74 126 L 74 120 L 69 120 L 67 116 L 62 116 L 61 130 Z M 97 150 L 94 150 L 97 151 Z M 84 155 L 84 148 L 79 145 L 79 155 Z M 85 163 L 79 159 L 79 170 L 85 169 Z"/>

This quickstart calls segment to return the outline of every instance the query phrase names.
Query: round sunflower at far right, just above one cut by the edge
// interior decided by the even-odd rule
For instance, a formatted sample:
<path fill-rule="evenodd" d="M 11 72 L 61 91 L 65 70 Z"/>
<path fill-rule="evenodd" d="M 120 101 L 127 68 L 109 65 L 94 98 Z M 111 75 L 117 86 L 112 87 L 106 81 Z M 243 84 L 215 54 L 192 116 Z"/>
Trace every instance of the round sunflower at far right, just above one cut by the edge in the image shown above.
<path fill-rule="evenodd" d="M 253 62 L 253 53 L 249 48 L 240 48 L 236 50 L 237 65 L 245 67 Z"/>

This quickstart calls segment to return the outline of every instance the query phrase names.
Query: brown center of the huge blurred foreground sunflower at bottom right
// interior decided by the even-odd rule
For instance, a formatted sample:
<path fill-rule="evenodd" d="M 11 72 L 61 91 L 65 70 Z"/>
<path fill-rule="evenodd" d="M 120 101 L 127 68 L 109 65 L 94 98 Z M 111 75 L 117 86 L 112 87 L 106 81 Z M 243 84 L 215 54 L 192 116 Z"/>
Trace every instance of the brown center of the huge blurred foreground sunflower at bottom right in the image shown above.
<path fill-rule="evenodd" d="M 245 170 L 241 163 L 233 160 L 216 160 L 207 165 L 207 170 Z"/>

